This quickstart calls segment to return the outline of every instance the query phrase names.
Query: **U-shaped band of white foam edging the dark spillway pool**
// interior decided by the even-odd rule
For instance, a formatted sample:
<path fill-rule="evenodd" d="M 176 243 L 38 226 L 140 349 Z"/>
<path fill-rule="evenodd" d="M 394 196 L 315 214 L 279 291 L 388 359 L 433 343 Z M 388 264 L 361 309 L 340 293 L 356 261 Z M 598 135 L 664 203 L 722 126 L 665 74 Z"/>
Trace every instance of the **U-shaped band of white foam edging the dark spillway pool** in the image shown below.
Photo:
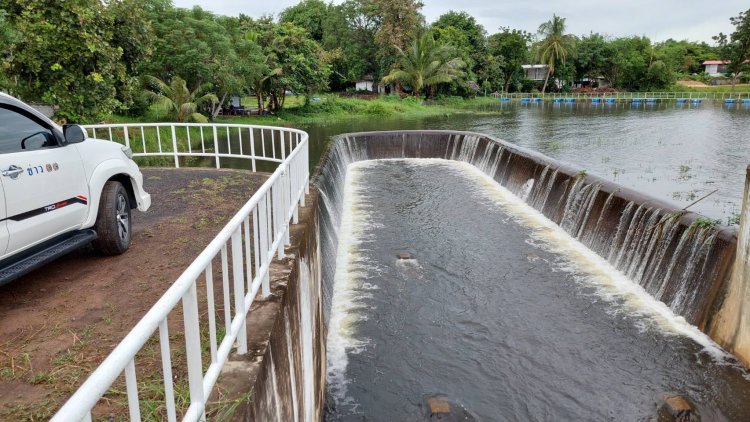
<path fill-rule="evenodd" d="M 380 272 L 374 263 L 364 256 L 362 243 L 372 238 L 375 225 L 370 221 L 372 201 L 361 179 L 363 170 L 383 161 L 402 161 L 410 165 L 442 165 L 455 170 L 458 176 L 466 177 L 475 186 L 478 195 L 490 200 L 502 209 L 510 219 L 529 230 L 527 243 L 553 253 L 558 261 L 553 271 L 573 274 L 582 286 L 592 287 L 598 297 L 610 303 L 611 314 L 626 314 L 642 330 L 658 329 L 667 335 L 685 336 L 702 347 L 702 351 L 717 363 L 734 365 L 731 355 L 721 349 L 706 334 L 675 314 L 667 305 L 656 300 L 638 283 L 618 271 L 606 259 L 571 237 L 565 230 L 549 220 L 521 198 L 497 183 L 494 179 L 474 167 L 460 161 L 436 158 L 381 159 L 350 164 L 345 178 L 339 246 L 336 258 L 333 298 L 327 338 L 328 384 L 337 405 L 357 408 L 357 403 L 347 396 L 346 370 L 348 354 L 360 353 L 368 339 L 357 333 L 357 324 L 367 319 L 371 311 L 364 303 L 370 297 L 368 291 L 378 286 L 368 283 L 368 275 Z M 395 258 L 395 257 L 394 257 Z M 530 260 L 539 257 L 529 256 Z M 543 259 L 547 261 L 546 259 Z M 421 269 L 416 259 L 397 260 L 401 271 Z"/>

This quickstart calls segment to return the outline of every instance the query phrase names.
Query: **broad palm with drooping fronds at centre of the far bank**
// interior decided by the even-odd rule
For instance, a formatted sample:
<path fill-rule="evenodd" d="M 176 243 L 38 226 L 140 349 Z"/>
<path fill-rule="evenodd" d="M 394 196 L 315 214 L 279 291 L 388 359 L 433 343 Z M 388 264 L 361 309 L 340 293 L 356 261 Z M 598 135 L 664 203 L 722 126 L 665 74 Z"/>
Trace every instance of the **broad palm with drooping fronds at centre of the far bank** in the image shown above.
<path fill-rule="evenodd" d="M 401 56 L 397 67 L 383 77 L 384 83 L 398 82 L 412 88 L 419 96 L 423 88 L 429 89 L 439 83 L 463 78 L 466 63 L 458 58 L 456 50 L 449 44 L 435 42 L 432 34 L 426 33 L 415 40 L 406 51 L 398 48 Z"/>

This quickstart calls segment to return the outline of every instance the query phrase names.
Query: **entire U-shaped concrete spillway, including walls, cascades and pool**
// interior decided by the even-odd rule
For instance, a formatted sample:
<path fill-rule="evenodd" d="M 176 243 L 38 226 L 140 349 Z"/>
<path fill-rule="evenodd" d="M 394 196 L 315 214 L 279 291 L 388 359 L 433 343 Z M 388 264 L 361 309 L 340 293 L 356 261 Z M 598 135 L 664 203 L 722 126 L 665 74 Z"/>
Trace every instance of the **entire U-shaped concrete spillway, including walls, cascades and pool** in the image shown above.
<path fill-rule="evenodd" d="M 661 400 L 654 397 L 675 390 L 707 420 L 750 417 L 741 399 L 750 394 L 747 373 L 700 331 L 729 351 L 744 344 L 746 311 L 737 292 L 747 289 L 737 271 L 731 278 L 732 229 L 474 133 L 341 135 L 315 183 L 314 224 L 299 270 L 310 276 L 300 277 L 304 286 L 290 296 L 300 315 L 314 317 L 279 319 L 275 331 L 287 335 L 272 336 L 274 364 L 257 390 L 265 400 L 253 414 L 317 419 L 326 389 L 332 421 L 415 416 L 441 393 L 480 419 L 598 420 L 612 417 L 613 409 L 620 418 L 642 419 Z M 443 186 L 442 195 L 432 195 Z M 458 202 L 440 207 L 454 197 Z M 432 225 L 415 227 L 424 223 L 423 214 L 409 212 L 425 204 L 437 211 L 429 217 Z M 463 214 L 471 215 L 474 229 L 496 223 L 468 233 L 471 227 L 450 219 Z M 438 247 L 430 251 L 424 244 L 433 241 Z M 408 244 L 415 249 L 403 247 Z M 520 251 L 522 258 L 488 253 L 494 245 Z M 555 264 L 560 259 L 562 267 Z M 482 272 L 476 263 L 494 267 Z M 505 267 L 533 277 L 522 284 L 498 281 Z M 400 290 L 376 281 L 400 283 Z M 604 301 L 592 299 L 590 290 Z M 415 307 L 409 297 L 436 308 Z M 485 313 L 453 318 L 467 309 Z M 381 329 L 386 341 L 377 339 Z M 425 349 L 425 335 L 445 341 Z M 405 389 L 351 385 L 352 371 L 357 379 L 385 377 L 388 388 Z M 446 373 L 453 373 L 447 383 Z M 421 388 L 434 385 L 443 387 Z M 487 391 L 492 397 L 482 396 Z M 476 400 L 461 400 L 461 394 Z M 532 397 L 536 402 L 529 404 Z M 287 402 L 295 404 L 283 411 L 274 405 Z"/>

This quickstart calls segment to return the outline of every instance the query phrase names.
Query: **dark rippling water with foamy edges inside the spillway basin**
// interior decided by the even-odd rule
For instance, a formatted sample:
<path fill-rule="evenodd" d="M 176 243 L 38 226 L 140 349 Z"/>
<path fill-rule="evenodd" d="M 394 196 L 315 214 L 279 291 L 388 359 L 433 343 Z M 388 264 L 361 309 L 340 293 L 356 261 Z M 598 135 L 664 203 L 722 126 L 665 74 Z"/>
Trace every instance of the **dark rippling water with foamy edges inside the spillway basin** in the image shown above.
<path fill-rule="evenodd" d="M 435 394 L 486 421 L 647 420 L 663 392 L 750 420 L 731 358 L 473 167 L 349 169 L 327 420 L 422 420 Z"/>

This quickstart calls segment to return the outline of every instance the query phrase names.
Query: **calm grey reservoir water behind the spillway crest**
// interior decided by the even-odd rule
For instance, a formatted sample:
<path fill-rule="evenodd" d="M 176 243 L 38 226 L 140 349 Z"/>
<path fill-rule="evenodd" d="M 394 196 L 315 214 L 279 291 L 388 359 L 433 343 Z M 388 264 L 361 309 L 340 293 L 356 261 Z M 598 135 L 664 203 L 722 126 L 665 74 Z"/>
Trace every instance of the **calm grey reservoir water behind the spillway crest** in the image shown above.
<path fill-rule="evenodd" d="M 571 163 L 725 224 L 739 213 L 750 164 L 750 107 L 704 103 L 498 105 L 427 119 L 366 119 L 305 128 L 317 163 L 330 137 L 346 132 L 452 129 L 484 133 Z"/>

